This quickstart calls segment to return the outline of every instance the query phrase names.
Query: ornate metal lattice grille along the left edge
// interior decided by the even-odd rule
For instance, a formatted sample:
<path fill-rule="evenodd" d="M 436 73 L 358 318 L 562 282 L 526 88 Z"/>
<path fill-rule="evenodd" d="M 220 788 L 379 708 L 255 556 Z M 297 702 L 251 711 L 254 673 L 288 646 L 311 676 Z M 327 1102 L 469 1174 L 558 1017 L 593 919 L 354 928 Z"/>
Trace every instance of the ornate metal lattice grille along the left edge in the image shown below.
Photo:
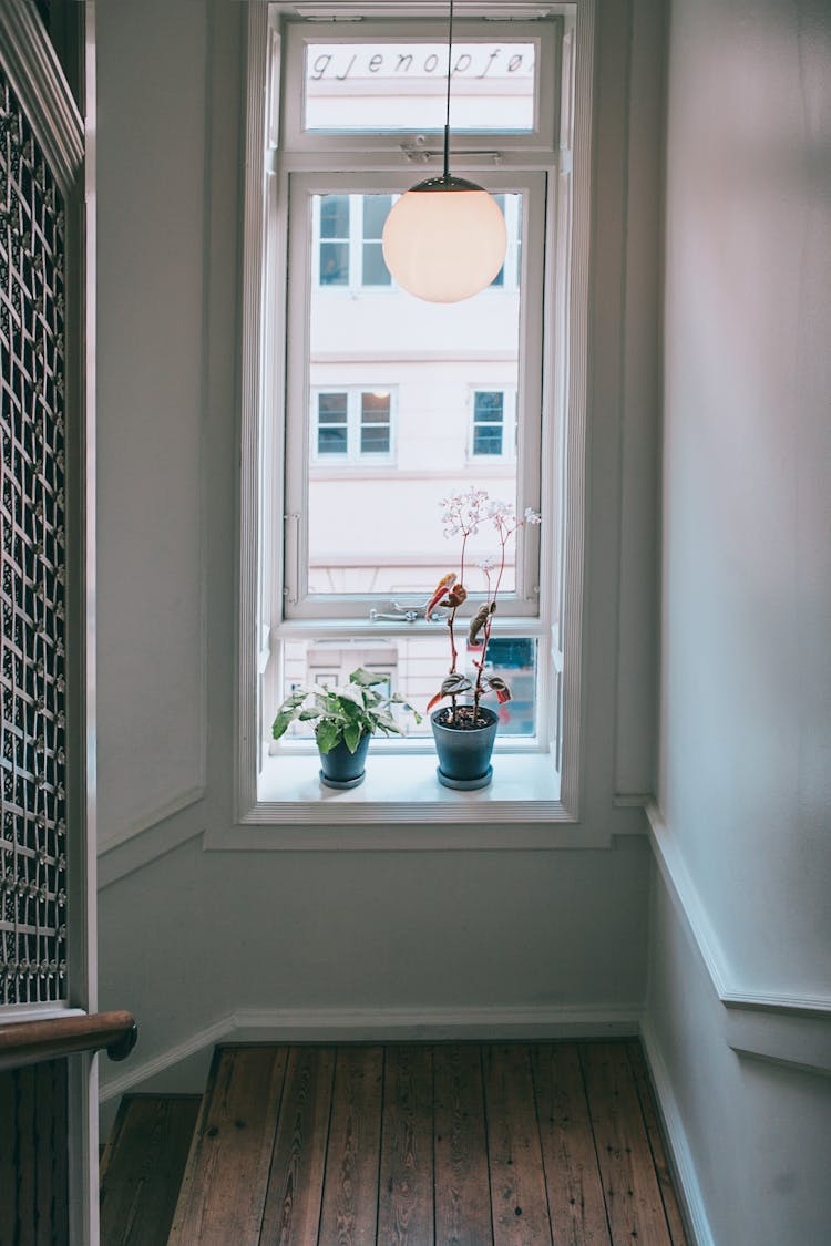
<path fill-rule="evenodd" d="M 65 207 L 0 72 L 0 1003 L 66 998 Z"/>

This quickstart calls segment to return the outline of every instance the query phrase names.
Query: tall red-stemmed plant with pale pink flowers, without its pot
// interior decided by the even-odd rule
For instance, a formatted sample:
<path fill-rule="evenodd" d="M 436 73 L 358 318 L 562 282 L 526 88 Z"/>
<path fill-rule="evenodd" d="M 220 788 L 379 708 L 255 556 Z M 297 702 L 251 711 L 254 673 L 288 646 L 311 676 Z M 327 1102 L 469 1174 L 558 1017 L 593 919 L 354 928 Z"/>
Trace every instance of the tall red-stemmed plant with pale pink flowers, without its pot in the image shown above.
<path fill-rule="evenodd" d="M 481 726 L 483 715 L 480 714 L 480 701 L 486 693 L 495 693 L 500 704 L 511 700 L 511 689 L 505 679 L 501 675 L 485 673 L 487 645 L 505 576 L 508 542 L 526 523 L 539 523 L 539 513 L 527 507 L 523 517 L 518 518 L 511 502 L 495 501 L 483 488 L 468 488 L 465 492 L 452 493 L 441 502 L 441 506 L 445 537 L 447 540 L 461 537 L 461 553 L 458 572 L 450 571 L 441 577 L 425 612 L 426 618 L 430 619 L 435 609 L 447 611 L 446 624 L 450 637 L 450 670 L 442 680 L 440 690 L 429 701 L 427 713 L 440 701 L 449 699 L 451 705 L 445 710 L 446 725 Z M 467 599 L 465 587 L 467 543 L 480 531 L 480 527 L 487 523 L 496 532 L 498 552 L 496 557 L 488 556 L 478 563 L 478 568 L 485 576 L 485 601 L 467 627 L 467 644 L 478 649 L 477 657 L 473 658 L 476 675 L 470 679 L 458 670 L 456 614 Z M 472 704 L 458 704 L 460 697 L 470 697 L 471 694 Z"/>

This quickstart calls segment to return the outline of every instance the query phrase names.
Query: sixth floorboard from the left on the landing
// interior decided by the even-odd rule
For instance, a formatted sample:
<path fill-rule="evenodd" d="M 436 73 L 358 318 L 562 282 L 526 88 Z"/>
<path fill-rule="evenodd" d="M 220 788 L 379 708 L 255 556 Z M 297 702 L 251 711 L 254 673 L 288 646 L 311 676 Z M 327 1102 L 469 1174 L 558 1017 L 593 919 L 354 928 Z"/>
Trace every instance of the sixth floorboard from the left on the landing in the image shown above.
<path fill-rule="evenodd" d="M 551 1246 L 528 1048 L 483 1048 L 495 1246 Z"/>

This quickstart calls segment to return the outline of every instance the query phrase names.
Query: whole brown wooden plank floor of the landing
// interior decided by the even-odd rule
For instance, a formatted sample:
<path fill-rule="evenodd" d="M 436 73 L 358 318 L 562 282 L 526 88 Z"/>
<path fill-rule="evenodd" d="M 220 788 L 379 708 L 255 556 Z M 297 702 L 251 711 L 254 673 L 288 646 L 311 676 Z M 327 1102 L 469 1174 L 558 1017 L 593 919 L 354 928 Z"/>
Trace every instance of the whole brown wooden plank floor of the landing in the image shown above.
<path fill-rule="evenodd" d="M 217 1052 L 169 1246 L 681 1246 L 634 1042 Z"/>

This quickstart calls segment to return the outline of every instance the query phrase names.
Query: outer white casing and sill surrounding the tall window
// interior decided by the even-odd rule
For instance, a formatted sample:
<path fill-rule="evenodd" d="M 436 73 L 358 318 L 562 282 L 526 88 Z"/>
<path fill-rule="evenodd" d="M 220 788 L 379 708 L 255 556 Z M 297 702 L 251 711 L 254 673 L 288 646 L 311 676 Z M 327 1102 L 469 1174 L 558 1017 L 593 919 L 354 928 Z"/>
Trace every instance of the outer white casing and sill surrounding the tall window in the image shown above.
<path fill-rule="evenodd" d="M 273 83 L 269 66 L 279 46 L 279 4 L 250 6 L 248 25 L 247 152 L 244 208 L 244 277 L 242 314 L 242 515 L 240 515 L 240 645 L 239 645 L 239 755 L 237 821 L 240 827 L 280 829 L 274 846 L 330 846 L 326 835 L 308 837 L 308 831 L 331 827 L 329 801 L 316 784 L 299 775 L 284 782 L 270 766 L 267 724 L 263 721 L 260 677 L 270 644 L 270 598 L 273 578 L 284 572 L 279 537 L 295 517 L 285 511 L 272 465 L 283 435 L 282 395 L 285 366 L 279 343 L 285 334 L 280 292 L 265 279 L 269 265 L 285 270 L 285 237 L 267 231 L 267 219 L 278 197 L 279 173 L 265 158 L 267 140 L 277 145 L 278 121 L 265 116 L 262 101 Z M 487 7 L 485 5 L 483 7 Z M 548 12 L 552 5 L 544 6 Z M 553 740 L 551 755 L 505 759 L 502 774 L 485 794 L 447 794 L 435 784 L 430 758 L 384 759 L 373 779 L 355 792 L 338 794 L 338 826 L 369 827 L 379 824 L 460 824 L 473 837 L 460 846 L 497 846 L 498 826 L 508 824 L 574 822 L 581 814 L 582 756 L 582 602 L 584 542 L 584 455 L 588 378 L 589 237 L 592 189 L 592 105 L 594 83 L 596 0 L 554 5 L 564 17 L 564 56 L 561 82 L 562 121 L 558 158 L 553 178 L 556 196 L 556 298 L 567 310 L 544 343 L 543 366 L 554 376 L 554 395 L 563 412 L 556 427 L 548 425 L 543 452 L 558 465 L 568 491 L 557 498 L 557 512 L 544 530 L 543 564 L 551 566 L 547 594 L 552 609 L 548 644 L 556 690 L 552 703 L 562 706 L 563 731 Z M 523 5 L 528 9 L 528 5 Z M 368 32 L 368 31 L 366 31 Z M 309 31 L 309 34 L 315 34 Z M 492 36 L 491 36 L 492 37 Z M 267 54 L 265 49 L 270 49 Z M 553 111 L 553 110 L 552 110 Z M 285 118 L 284 118 L 285 120 Z M 313 136 L 315 140 L 318 136 Z M 389 142 L 389 137 L 386 140 Z M 361 141 L 360 147 L 364 148 Z M 500 143 L 502 147 L 503 145 Z M 358 150 L 358 146 L 356 146 Z M 505 143 L 503 162 L 511 163 L 511 145 Z M 482 164 L 486 164 L 485 153 Z M 414 181 L 410 171 L 407 181 Z M 553 243 L 553 223 L 549 224 Z M 290 540 L 287 545 L 290 548 Z M 321 634 L 320 629 L 315 634 Z M 371 628 L 350 623 L 331 625 L 333 637 L 360 640 L 378 638 Z M 502 628 L 502 635 L 527 634 L 526 628 Z M 543 638 L 543 643 L 546 643 Z M 568 660 L 566 660 L 566 655 Z M 272 759 L 273 760 L 273 759 Z M 544 765 L 541 766 L 539 761 Z M 416 764 L 419 763 L 419 764 Z M 422 763 L 426 763 L 422 764 Z M 531 763 L 531 764 L 528 764 Z M 373 768 L 375 770 L 375 766 Z M 556 781 L 554 781 L 556 779 Z M 431 782 L 432 780 L 432 782 Z M 346 796 L 346 799 L 343 799 Z M 492 831 L 486 827 L 491 824 Z M 300 834 L 294 834 L 298 830 Z M 512 832 L 516 827 L 511 827 Z M 541 827 L 542 831 L 542 827 Z M 328 834 L 328 832 L 326 832 Z M 354 837 L 354 836 L 353 836 Z M 361 836 L 358 837 L 361 840 Z M 420 846 L 414 839 L 411 846 Z M 343 846 L 350 846 L 349 842 Z M 361 840 L 363 842 L 363 840 Z M 374 841 L 373 841 L 374 842 Z M 430 840 L 432 844 L 434 841 Z M 516 834 L 512 846 L 523 846 Z M 528 845 L 541 844 L 528 830 Z M 355 841 L 358 846 L 358 840 Z M 410 845 L 405 845 L 410 846 Z"/>

